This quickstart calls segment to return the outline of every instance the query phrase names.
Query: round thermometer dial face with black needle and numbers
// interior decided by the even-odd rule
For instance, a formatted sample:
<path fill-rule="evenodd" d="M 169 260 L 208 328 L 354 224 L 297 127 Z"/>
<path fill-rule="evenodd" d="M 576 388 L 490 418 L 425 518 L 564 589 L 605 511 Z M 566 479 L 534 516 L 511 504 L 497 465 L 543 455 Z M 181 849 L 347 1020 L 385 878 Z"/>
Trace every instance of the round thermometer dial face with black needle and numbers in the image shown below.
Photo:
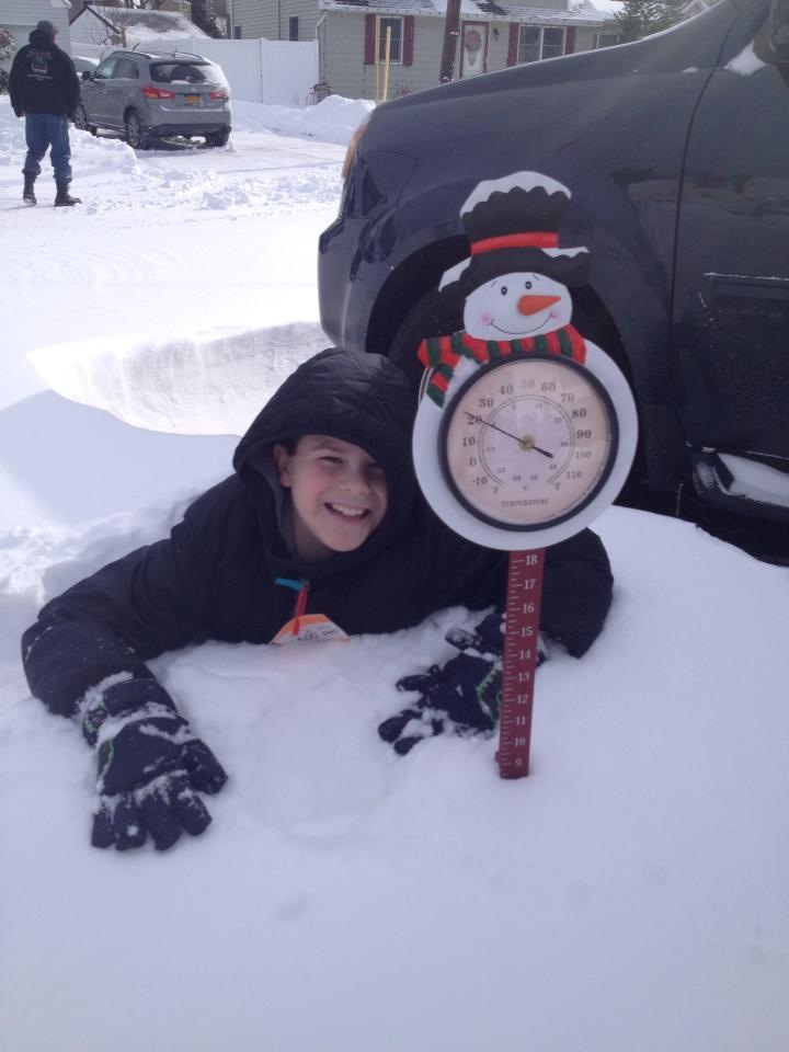
<path fill-rule="evenodd" d="M 617 414 L 594 373 L 528 354 L 482 366 L 447 407 L 439 433 L 449 489 L 474 517 L 537 530 L 582 511 L 617 455 Z"/>

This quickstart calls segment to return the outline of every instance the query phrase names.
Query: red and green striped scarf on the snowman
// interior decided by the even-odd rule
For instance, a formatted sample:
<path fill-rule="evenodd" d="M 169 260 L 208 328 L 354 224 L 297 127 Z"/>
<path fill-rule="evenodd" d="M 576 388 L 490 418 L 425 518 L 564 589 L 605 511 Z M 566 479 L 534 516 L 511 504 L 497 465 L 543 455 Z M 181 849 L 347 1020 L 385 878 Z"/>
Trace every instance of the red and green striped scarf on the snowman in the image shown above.
<path fill-rule="evenodd" d="M 461 357 L 483 365 L 514 352 L 525 354 L 529 351 L 563 355 L 581 365 L 586 358 L 584 339 L 572 325 L 522 340 L 477 340 L 462 331 L 454 332 L 450 336 L 430 336 L 420 344 L 418 356 L 426 369 L 433 369 L 427 395 L 441 407 L 444 405 L 449 381 Z"/>

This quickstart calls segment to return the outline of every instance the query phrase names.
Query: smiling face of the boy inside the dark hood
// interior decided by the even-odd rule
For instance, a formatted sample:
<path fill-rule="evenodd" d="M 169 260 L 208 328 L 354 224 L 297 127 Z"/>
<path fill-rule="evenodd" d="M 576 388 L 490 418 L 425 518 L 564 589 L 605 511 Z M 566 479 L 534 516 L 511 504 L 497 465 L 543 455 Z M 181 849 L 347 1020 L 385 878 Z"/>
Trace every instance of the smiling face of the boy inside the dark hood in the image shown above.
<path fill-rule="evenodd" d="M 386 514 L 384 469 L 361 446 L 302 435 L 293 454 L 277 443 L 274 461 L 279 482 L 290 490 L 295 554 L 305 562 L 353 551 Z"/>

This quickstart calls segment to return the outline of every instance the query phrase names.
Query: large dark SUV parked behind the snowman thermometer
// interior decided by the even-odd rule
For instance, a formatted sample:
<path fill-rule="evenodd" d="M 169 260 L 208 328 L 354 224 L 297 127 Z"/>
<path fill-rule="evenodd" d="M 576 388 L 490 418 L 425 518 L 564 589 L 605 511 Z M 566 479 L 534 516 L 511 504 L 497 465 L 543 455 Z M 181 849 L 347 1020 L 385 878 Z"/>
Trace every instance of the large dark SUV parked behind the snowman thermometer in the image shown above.
<path fill-rule="evenodd" d="M 587 245 L 573 324 L 636 395 L 640 470 L 710 504 L 789 521 L 789 0 L 719 0 L 676 28 L 379 106 L 320 239 L 321 321 L 414 367 L 461 328 L 436 293 L 468 255 L 481 180 L 572 192 Z"/>

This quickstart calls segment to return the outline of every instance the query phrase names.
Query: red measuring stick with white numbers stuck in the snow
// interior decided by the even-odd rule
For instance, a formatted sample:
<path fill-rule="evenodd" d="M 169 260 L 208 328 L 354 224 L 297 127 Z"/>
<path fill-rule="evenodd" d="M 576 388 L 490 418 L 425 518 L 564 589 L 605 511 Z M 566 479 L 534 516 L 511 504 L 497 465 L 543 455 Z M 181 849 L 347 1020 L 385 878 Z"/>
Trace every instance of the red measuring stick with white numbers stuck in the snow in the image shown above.
<path fill-rule="evenodd" d="M 496 762 L 502 778 L 528 775 L 545 549 L 510 552 Z"/>

